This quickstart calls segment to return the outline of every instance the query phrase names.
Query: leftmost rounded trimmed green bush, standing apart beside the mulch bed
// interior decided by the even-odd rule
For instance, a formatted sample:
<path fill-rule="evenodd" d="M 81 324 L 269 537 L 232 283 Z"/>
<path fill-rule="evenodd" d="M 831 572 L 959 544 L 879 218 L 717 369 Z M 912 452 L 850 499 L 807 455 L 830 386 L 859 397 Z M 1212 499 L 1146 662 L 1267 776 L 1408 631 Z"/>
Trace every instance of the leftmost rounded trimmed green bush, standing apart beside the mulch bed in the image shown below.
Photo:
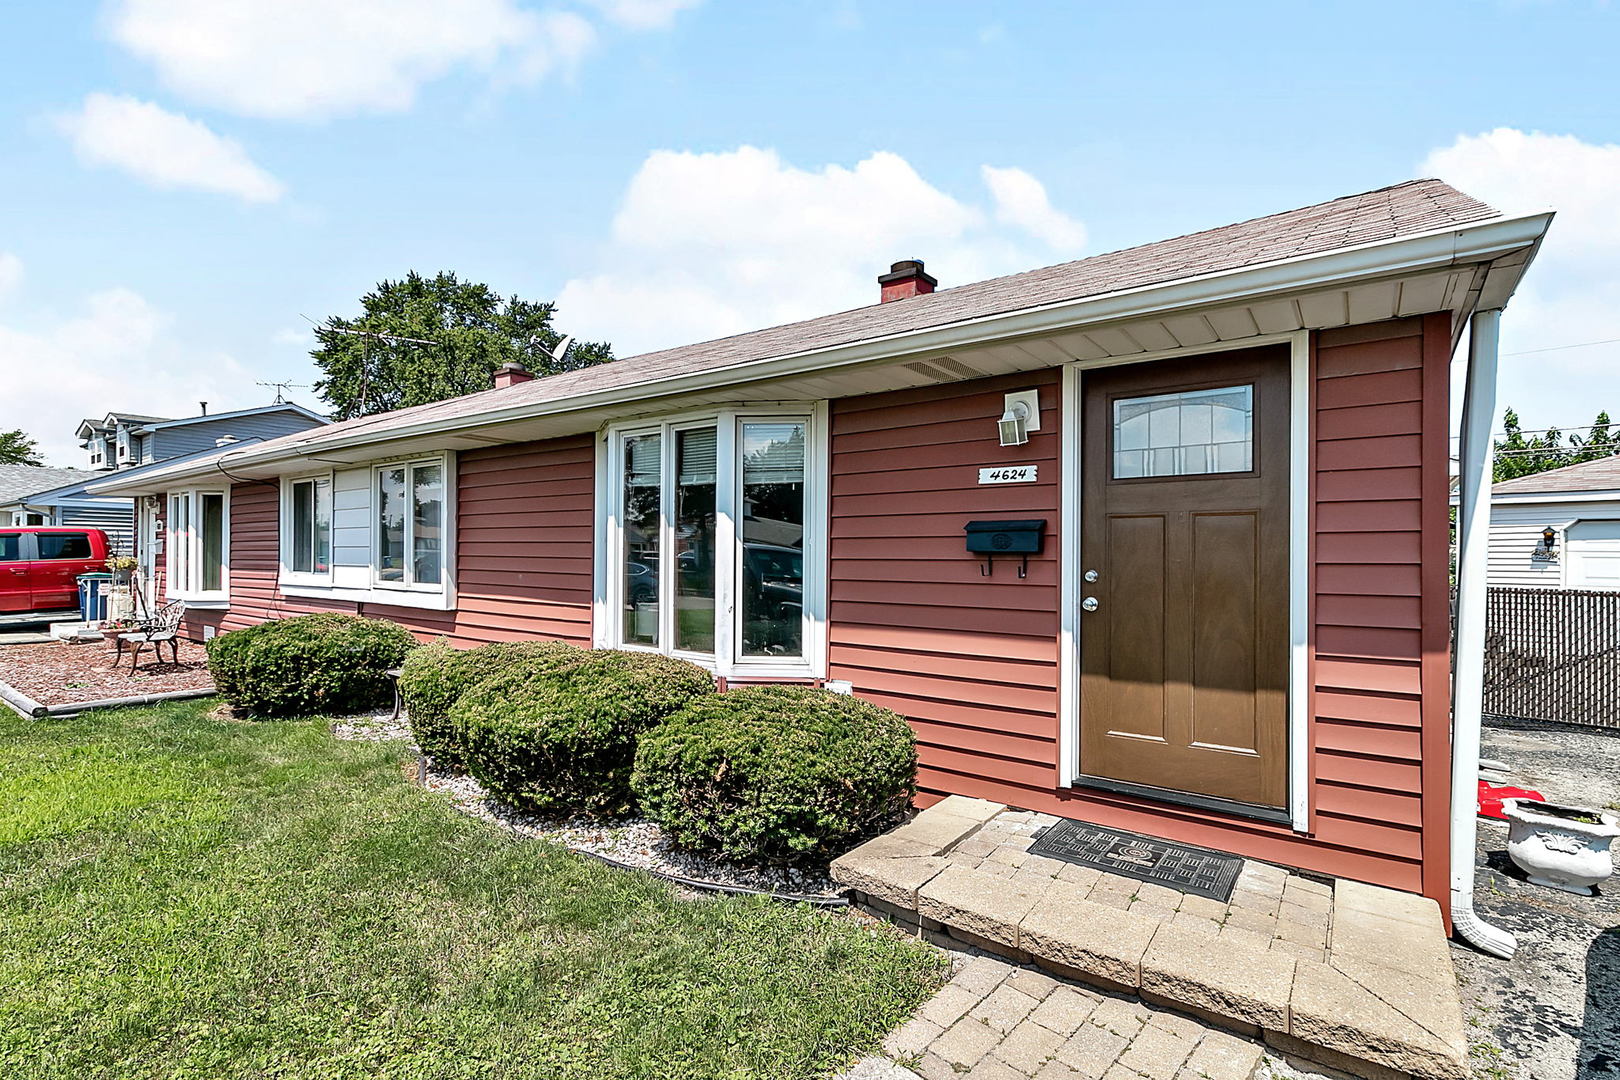
<path fill-rule="evenodd" d="M 358 712 L 392 699 L 384 672 L 413 648 L 399 623 L 324 612 L 222 633 L 207 665 L 225 699 L 254 716 Z"/>

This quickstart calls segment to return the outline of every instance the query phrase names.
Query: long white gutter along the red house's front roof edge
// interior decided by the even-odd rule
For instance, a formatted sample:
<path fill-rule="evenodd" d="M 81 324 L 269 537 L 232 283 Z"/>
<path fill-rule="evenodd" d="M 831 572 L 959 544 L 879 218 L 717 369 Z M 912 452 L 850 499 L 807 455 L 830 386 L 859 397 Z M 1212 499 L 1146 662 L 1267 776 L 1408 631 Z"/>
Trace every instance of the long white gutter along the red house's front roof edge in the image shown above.
<path fill-rule="evenodd" d="M 723 389 L 739 382 L 804 376 L 872 361 L 896 359 L 910 353 L 974 348 L 1003 338 L 1056 334 L 1097 322 L 1119 322 L 1191 308 L 1264 300 L 1278 293 L 1296 293 L 1327 285 L 1349 285 L 1358 280 L 1382 279 L 1393 274 L 1477 264 L 1533 246 L 1547 230 L 1550 220 L 1552 212 L 1495 217 L 1471 225 L 1452 225 L 1396 240 L 1336 248 L 1325 254 L 1296 256 L 1254 267 L 1142 285 L 1102 296 L 1021 308 L 1011 313 L 980 316 L 922 330 L 888 334 L 847 345 L 833 345 L 787 356 L 771 356 L 698 372 L 648 379 L 577 397 L 523 402 L 483 413 L 431 418 L 399 427 L 366 427 L 350 436 L 334 436 L 329 439 L 316 436 L 298 444 L 269 445 L 258 449 L 258 452 L 243 452 L 235 457 L 219 458 L 219 463 L 224 465 L 228 460 L 233 466 L 249 466 L 259 461 L 293 460 L 356 445 L 395 442 L 467 427 L 536 419 L 606 405 L 625 405 L 646 398 Z M 1513 267 L 1513 270 L 1518 272 L 1523 267 Z M 199 466 L 196 471 L 201 474 L 211 470 Z M 175 473 L 172 478 L 178 479 L 190 474 Z M 112 492 L 117 487 L 109 487 L 107 491 Z"/>

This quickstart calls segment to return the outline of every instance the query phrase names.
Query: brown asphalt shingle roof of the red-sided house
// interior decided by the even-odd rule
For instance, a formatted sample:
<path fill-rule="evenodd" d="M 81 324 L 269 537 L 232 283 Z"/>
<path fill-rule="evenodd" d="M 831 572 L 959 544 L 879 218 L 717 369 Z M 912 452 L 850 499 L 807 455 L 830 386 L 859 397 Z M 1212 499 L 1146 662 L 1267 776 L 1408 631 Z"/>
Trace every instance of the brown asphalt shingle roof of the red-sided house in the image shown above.
<path fill-rule="evenodd" d="M 520 382 L 501 390 L 483 390 L 447 402 L 340 421 L 318 431 L 282 436 L 266 445 L 314 444 L 361 436 L 368 431 L 376 431 L 382 437 L 389 429 L 403 424 L 449 421 L 457 416 L 471 418 L 484 411 L 632 387 L 656 379 L 792 356 L 891 334 L 943 327 L 1024 308 L 1322 254 L 1335 248 L 1468 225 L 1490 217 L 1500 217 L 1500 212 L 1440 180 L 1408 180 L 1390 188 L 1256 217 L 1174 240 L 1162 240 L 956 288 L 941 288 L 925 296 L 870 304 L 713 342 L 642 353 L 595 368 Z"/>

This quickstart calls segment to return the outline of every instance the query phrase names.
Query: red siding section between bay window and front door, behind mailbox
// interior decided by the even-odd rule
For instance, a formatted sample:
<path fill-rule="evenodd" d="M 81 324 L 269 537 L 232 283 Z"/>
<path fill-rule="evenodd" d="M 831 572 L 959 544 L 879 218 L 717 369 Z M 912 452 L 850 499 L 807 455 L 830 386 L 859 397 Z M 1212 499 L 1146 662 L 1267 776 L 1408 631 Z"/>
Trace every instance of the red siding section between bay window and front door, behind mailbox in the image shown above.
<path fill-rule="evenodd" d="M 833 403 L 829 670 L 912 719 L 922 787 L 974 776 L 1056 785 L 1058 372 Z M 1037 387 L 1042 431 L 1001 447 L 1003 393 Z M 1035 484 L 978 486 L 988 465 L 1038 466 Z M 1027 578 L 967 554 L 975 518 L 1045 518 Z M 1027 801 L 1027 800 L 1025 800 Z"/>

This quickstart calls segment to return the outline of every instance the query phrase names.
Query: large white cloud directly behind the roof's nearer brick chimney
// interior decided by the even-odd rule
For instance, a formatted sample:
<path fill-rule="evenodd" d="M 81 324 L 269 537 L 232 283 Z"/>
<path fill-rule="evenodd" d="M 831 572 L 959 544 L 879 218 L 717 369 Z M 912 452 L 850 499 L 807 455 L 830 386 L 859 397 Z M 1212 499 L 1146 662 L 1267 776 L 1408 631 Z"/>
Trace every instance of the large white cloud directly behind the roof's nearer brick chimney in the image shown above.
<path fill-rule="evenodd" d="M 991 191 L 991 212 L 889 152 L 807 170 L 752 146 L 656 151 L 614 219 L 611 269 L 564 287 L 559 322 L 627 356 L 875 303 L 896 259 L 949 287 L 1079 254 L 1084 232 L 1034 178 L 995 172 L 1013 194 Z"/>

